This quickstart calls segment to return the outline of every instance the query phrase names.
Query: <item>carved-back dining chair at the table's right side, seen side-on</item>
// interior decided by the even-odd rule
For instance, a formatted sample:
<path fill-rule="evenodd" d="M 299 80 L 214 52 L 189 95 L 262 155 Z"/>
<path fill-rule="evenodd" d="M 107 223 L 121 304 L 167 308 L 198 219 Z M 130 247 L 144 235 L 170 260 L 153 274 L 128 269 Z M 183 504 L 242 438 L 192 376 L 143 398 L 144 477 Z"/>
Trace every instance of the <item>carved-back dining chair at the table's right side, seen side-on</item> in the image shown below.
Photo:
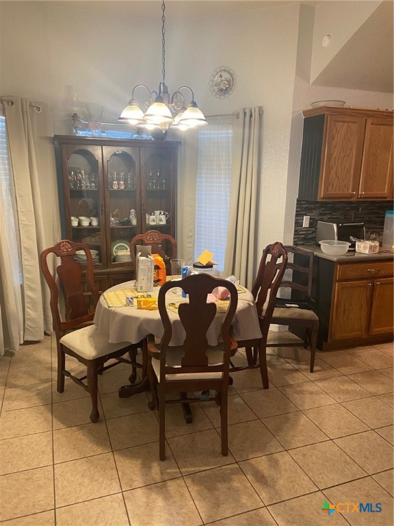
<path fill-rule="evenodd" d="M 235 366 L 231 362 L 230 373 L 244 371 L 248 368 L 259 368 L 264 389 L 270 387 L 266 355 L 268 331 L 274 313 L 276 294 L 285 274 L 286 264 L 287 252 L 282 243 L 275 242 L 265 247 L 261 256 L 259 271 L 252 286 L 252 295 L 256 302 L 257 316 L 259 316 L 261 338 L 237 342 L 239 349 L 245 347 L 248 365 Z"/>

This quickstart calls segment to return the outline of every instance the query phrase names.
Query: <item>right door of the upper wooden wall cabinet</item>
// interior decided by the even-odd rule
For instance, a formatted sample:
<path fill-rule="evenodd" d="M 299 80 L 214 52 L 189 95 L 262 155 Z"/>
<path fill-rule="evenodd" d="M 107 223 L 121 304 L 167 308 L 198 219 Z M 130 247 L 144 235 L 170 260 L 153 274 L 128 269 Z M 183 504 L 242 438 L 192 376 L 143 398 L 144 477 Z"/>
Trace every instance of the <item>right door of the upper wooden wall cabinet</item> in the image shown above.
<path fill-rule="evenodd" d="M 367 118 L 358 199 L 393 199 L 393 121 Z"/>

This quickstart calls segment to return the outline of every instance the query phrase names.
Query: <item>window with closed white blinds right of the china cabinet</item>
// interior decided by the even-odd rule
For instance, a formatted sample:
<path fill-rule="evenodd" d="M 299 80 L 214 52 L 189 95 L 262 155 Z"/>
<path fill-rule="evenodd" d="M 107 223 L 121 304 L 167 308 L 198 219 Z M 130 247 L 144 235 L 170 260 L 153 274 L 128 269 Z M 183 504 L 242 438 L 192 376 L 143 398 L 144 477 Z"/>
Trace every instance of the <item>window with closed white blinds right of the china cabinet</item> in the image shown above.
<path fill-rule="evenodd" d="M 194 260 L 210 250 L 219 271 L 226 252 L 232 149 L 233 116 L 198 130 Z"/>

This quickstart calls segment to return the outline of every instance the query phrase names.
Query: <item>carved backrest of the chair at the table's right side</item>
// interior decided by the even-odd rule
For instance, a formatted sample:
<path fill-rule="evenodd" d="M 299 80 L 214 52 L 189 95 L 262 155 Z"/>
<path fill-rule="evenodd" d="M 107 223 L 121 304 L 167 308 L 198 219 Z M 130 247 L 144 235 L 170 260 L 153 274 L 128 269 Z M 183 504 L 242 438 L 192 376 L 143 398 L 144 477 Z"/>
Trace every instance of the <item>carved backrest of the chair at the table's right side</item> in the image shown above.
<path fill-rule="evenodd" d="M 259 318 L 263 315 L 267 325 L 270 324 L 274 312 L 276 293 L 285 274 L 286 265 L 287 252 L 282 243 L 277 241 L 265 247 L 259 271 L 252 286 L 252 295 L 256 301 L 257 314 Z"/>

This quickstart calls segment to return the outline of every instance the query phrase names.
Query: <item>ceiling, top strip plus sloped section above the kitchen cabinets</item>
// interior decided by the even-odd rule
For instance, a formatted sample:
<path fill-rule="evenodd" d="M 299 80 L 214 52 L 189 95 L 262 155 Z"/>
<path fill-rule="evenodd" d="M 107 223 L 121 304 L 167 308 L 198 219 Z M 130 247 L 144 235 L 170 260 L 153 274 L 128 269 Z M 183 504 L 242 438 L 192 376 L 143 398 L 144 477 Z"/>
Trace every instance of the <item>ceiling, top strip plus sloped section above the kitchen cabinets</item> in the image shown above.
<path fill-rule="evenodd" d="M 327 1 L 327 0 L 326 0 Z M 157 19 L 160 0 L 49 0 L 55 5 L 118 16 Z M 271 8 L 311 0 L 166 0 L 169 20 L 208 18 L 231 12 Z M 383 1 L 368 20 L 335 55 L 313 84 L 367 91 L 393 92 L 393 0 Z"/>

